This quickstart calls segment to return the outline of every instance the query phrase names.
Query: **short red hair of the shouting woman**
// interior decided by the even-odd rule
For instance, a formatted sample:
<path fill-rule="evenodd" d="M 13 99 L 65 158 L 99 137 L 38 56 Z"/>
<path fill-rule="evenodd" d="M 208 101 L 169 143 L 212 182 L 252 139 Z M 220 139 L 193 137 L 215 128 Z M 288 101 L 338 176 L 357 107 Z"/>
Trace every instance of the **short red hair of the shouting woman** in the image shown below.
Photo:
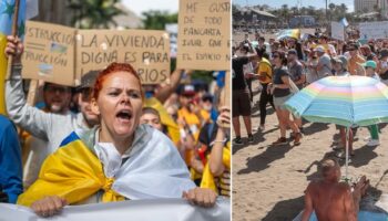
<path fill-rule="evenodd" d="M 134 77 L 136 77 L 136 80 L 139 82 L 140 92 L 143 96 L 142 82 L 137 75 L 137 72 L 133 69 L 133 66 L 131 64 L 127 64 L 127 63 L 113 62 L 109 66 L 106 66 L 106 69 L 104 69 L 102 72 L 100 72 L 100 74 L 98 75 L 95 83 L 94 83 L 94 87 L 93 87 L 93 96 L 92 97 L 94 99 L 96 99 L 99 97 L 100 91 L 102 90 L 102 85 L 103 85 L 104 81 L 106 80 L 108 75 L 113 74 L 115 72 L 127 72 L 127 73 L 132 74 Z"/>

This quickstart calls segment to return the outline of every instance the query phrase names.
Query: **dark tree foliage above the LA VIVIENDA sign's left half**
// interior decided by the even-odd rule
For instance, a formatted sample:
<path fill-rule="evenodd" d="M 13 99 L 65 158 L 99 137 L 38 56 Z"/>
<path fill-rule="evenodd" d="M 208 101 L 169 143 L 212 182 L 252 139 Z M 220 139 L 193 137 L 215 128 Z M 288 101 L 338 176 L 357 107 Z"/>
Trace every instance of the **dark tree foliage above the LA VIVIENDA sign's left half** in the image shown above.
<path fill-rule="evenodd" d="M 108 29 L 115 27 L 114 17 L 124 14 L 116 7 L 120 0 L 68 0 L 75 11 L 72 23 L 79 29 Z"/>

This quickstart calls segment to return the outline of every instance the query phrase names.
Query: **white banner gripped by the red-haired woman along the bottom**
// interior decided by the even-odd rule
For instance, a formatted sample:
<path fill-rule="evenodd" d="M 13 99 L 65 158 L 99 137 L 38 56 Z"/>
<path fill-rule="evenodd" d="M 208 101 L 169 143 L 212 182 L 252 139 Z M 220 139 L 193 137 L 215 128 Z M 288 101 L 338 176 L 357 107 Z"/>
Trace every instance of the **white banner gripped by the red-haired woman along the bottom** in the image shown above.
<path fill-rule="evenodd" d="M 129 200 L 85 206 L 68 206 L 51 219 L 37 215 L 30 208 L 0 203 L 0 221 L 225 221 L 231 219 L 231 202 L 219 198 L 213 208 L 201 208 L 183 199 Z"/>

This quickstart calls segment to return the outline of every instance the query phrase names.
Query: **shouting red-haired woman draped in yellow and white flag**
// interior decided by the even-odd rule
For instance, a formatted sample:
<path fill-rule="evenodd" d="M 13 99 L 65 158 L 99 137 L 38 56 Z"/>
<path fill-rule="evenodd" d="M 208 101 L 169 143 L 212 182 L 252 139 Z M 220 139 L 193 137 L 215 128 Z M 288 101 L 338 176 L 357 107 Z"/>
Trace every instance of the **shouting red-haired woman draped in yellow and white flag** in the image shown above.
<path fill-rule="evenodd" d="M 91 101 L 100 127 L 64 139 L 18 203 L 44 217 L 68 203 L 126 199 L 183 196 L 213 206 L 216 193 L 195 188 L 173 143 L 157 129 L 139 124 L 143 99 L 141 81 L 130 64 L 113 63 L 103 70 Z"/>

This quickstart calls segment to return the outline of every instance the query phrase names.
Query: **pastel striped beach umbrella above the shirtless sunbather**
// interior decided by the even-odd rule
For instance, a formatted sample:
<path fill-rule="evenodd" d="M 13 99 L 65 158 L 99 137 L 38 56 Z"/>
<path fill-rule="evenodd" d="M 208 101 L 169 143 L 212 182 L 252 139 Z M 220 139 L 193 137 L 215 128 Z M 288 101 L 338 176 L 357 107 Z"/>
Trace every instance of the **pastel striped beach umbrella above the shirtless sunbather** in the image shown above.
<path fill-rule="evenodd" d="M 388 87 L 367 76 L 328 76 L 286 102 L 286 107 L 308 122 L 348 128 L 388 123 Z M 346 176 L 348 166 L 346 148 Z"/>

